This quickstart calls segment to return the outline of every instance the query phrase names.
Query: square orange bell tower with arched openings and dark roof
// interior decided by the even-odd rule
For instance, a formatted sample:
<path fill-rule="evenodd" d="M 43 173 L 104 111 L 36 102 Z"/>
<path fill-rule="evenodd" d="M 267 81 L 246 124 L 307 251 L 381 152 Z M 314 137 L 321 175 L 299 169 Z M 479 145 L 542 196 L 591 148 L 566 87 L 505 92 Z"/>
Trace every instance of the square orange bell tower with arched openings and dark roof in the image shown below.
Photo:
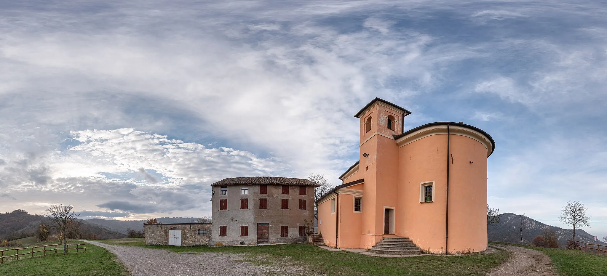
<path fill-rule="evenodd" d="M 361 246 L 370 248 L 383 235 L 396 233 L 398 146 L 395 135 L 403 133 L 404 117 L 411 112 L 375 98 L 354 115 L 361 119 L 359 172 L 364 178 Z"/>

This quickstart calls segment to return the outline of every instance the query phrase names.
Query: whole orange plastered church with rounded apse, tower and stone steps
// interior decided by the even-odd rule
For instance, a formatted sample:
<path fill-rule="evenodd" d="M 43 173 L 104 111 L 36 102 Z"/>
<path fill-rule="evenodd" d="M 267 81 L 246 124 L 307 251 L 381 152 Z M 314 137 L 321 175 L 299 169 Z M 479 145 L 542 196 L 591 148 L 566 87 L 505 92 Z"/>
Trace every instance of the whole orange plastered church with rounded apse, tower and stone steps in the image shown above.
<path fill-rule="evenodd" d="M 380 254 L 486 250 L 487 157 L 495 142 L 461 122 L 404 131 L 410 113 L 375 98 L 354 115 L 359 161 L 318 201 L 324 243 Z"/>

